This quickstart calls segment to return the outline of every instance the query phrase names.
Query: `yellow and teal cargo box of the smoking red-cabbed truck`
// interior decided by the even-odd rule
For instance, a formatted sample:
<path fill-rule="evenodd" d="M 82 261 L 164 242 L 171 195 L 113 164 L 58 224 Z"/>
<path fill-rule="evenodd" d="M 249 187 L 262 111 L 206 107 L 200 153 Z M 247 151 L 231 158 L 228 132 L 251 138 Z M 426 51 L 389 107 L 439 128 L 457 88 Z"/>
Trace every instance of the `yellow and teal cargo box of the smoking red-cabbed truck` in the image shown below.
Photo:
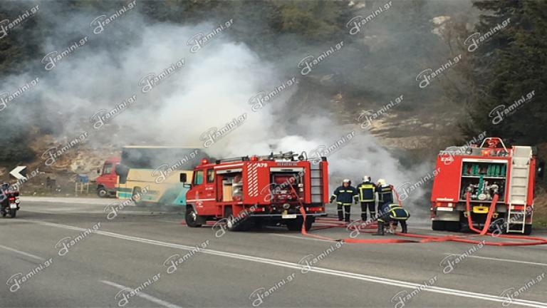
<path fill-rule="evenodd" d="M 192 170 L 204 157 L 201 148 L 125 146 L 116 168 L 116 197 L 137 205 L 185 206 L 184 183 L 192 180 Z"/>

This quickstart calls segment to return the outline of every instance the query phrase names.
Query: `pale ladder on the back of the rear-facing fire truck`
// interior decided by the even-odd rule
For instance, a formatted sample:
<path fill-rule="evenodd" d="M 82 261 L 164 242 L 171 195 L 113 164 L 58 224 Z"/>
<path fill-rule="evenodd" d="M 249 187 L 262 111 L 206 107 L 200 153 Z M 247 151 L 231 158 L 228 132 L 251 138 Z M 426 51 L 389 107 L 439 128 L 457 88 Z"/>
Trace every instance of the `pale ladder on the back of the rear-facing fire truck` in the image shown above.
<path fill-rule="evenodd" d="M 524 232 L 526 225 L 526 200 L 528 200 L 528 180 L 530 175 L 530 158 L 532 148 L 514 146 L 511 161 L 511 176 L 509 178 L 509 207 L 507 209 L 506 232 Z M 514 210 L 515 205 L 519 210 Z M 518 227 L 519 229 L 511 229 Z"/>

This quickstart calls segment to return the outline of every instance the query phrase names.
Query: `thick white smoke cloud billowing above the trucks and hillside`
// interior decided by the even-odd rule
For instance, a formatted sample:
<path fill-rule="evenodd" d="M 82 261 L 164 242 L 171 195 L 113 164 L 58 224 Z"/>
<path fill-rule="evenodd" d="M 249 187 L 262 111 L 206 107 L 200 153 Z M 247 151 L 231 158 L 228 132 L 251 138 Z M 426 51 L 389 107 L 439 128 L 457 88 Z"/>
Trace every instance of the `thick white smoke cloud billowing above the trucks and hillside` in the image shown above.
<path fill-rule="evenodd" d="M 35 108 L 34 113 L 26 115 L 23 123 L 36 122 L 38 114 L 40 118 L 46 114 L 49 120 L 62 121 L 63 130 L 56 132 L 60 137 L 73 138 L 88 131 L 89 145 L 98 146 L 109 140 L 121 148 L 123 145 L 203 146 L 207 132 L 212 128 L 222 130 L 235 119 L 239 124 L 233 130 L 208 144 L 211 155 L 231 157 L 305 150 L 311 156 L 317 152 L 314 150 L 323 149 L 324 153 L 345 138 L 345 142 L 335 146 L 334 153 L 328 153 L 333 175 L 331 186 L 342 178 L 358 182 L 365 174 L 374 180 L 386 178 L 398 186 L 407 181 L 415 183 L 427 173 L 427 168 L 402 170 L 398 161 L 373 136 L 361 130 L 358 123 L 340 127 L 326 111 L 298 115 L 298 123 L 290 129 L 286 127 L 283 110 L 302 78 L 298 63 L 294 63 L 293 71 L 278 71 L 278 67 L 286 67 L 283 59 L 279 63 L 265 62 L 244 44 L 231 41 L 229 29 L 192 53 L 187 41 L 195 34 L 207 34 L 217 24 L 142 26 L 145 22 L 137 11 L 127 14 L 132 15 L 114 21 L 101 34 L 93 34 L 89 26 L 94 16 L 71 19 L 72 29 L 81 33 L 74 37 L 88 36 L 88 42 L 63 57 L 51 71 L 42 66 L 42 71 L 25 75 L 41 76 L 41 81 L 31 93 L 33 102 L 26 102 L 29 108 Z M 59 33 L 66 36 L 66 31 Z M 48 37 L 37 61 L 51 51 L 61 53 L 73 41 L 77 40 Z M 150 73 L 158 76 L 170 66 L 177 69 L 143 93 L 142 78 Z M 250 98 L 261 91 L 273 91 L 293 76 L 296 84 L 256 112 L 251 109 Z M 22 80 L 26 79 L 9 76 L 4 84 L 16 86 Z M 93 115 L 103 109 L 99 115 L 104 115 L 132 96 L 135 103 L 128 103 L 98 130 L 93 128 L 96 123 L 96 118 L 91 119 Z M 177 159 L 172 158 L 173 162 Z M 172 162 L 162 161 L 158 165 L 162 163 Z M 412 194 L 413 200 L 419 197 L 422 191 Z"/>

